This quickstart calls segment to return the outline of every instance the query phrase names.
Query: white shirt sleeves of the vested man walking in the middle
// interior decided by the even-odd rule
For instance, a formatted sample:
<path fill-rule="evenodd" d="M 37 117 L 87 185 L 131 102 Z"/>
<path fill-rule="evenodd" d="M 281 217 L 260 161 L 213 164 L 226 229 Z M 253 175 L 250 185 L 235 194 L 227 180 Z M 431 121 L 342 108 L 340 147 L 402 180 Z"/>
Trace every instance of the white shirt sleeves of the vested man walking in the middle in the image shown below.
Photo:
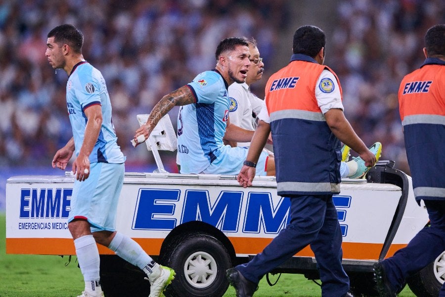
<path fill-rule="evenodd" d="M 322 84 L 324 80 L 330 80 L 333 84 L 332 91 L 326 92 L 325 89 L 322 88 Z M 229 88 L 230 90 L 230 88 Z M 318 107 L 320 107 L 321 112 L 325 114 L 332 108 L 339 108 L 344 110 L 342 103 L 342 96 L 340 94 L 340 87 L 338 85 L 337 79 L 334 74 L 329 70 L 325 69 L 321 72 L 320 77 L 317 80 L 317 84 L 315 87 L 315 98 L 318 102 Z M 265 108 L 262 108 L 260 113 L 258 114 L 258 118 L 265 121 L 266 123 L 270 123 L 269 112 L 267 111 L 267 106 L 264 104 Z M 230 117 L 230 121 L 232 118 Z"/>

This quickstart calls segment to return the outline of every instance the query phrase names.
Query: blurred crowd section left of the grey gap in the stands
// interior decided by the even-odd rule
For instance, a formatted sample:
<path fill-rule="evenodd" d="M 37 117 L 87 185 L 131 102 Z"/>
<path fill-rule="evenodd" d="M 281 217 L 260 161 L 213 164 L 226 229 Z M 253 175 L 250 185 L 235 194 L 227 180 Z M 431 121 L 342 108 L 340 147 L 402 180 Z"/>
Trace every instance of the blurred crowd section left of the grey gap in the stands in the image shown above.
<path fill-rule="evenodd" d="M 46 34 L 55 26 L 83 31 L 84 57 L 107 82 L 118 144 L 131 167 L 153 162 L 142 146 L 131 146 L 136 114 L 214 68 L 216 46 L 226 37 L 255 36 L 265 59 L 271 57 L 275 32 L 288 23 L 285 3 L 0 0 L 0 166 L 49 165 L 72 137 L 67 74 L 52 70 L 45 57 Z M 176 126 L 175 111 L 170 116 Z"/>

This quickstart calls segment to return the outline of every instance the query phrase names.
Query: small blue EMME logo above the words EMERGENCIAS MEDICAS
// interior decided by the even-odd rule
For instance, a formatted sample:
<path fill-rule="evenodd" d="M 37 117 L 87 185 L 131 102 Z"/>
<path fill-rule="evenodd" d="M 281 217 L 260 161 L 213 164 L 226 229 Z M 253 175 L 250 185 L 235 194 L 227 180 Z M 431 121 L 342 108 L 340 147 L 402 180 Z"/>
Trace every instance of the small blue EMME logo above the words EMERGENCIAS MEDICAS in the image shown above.
<path fill-rule="evenodd" d="M 68 218 L 73 189 L 21 189 L 20 218 Z"/>

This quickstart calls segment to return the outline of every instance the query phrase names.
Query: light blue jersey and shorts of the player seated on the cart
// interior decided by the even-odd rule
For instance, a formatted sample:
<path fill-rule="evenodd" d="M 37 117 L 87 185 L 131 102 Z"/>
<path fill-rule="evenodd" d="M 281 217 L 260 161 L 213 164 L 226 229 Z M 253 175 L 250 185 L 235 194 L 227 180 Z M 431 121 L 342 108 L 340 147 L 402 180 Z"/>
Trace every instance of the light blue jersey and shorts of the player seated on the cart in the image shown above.
<path fill-rule="evenodd" d="M 238 174 L 246 148 L 224 146 L 229 104 L 228 85 L 217 70 L 198 74 L 187 85 L 196 102 L 178 114 L 178 159 L 181 173 Z M 267 153 L 259 160 L 258 175 L 266 175 Z"/>

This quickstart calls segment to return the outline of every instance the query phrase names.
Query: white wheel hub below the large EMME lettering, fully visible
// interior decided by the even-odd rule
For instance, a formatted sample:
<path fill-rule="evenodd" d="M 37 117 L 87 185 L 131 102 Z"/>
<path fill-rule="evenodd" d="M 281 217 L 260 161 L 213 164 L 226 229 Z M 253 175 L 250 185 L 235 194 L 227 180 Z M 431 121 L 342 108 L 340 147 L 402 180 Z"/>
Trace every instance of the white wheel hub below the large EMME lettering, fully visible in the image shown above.
<path fill-rule="evenodd" d="M 212 285 L 217 272 L 217 262 L 204 251 L 192 253 L 184 264 L 185 279 L 194 288 L 204 289 Z"/>

